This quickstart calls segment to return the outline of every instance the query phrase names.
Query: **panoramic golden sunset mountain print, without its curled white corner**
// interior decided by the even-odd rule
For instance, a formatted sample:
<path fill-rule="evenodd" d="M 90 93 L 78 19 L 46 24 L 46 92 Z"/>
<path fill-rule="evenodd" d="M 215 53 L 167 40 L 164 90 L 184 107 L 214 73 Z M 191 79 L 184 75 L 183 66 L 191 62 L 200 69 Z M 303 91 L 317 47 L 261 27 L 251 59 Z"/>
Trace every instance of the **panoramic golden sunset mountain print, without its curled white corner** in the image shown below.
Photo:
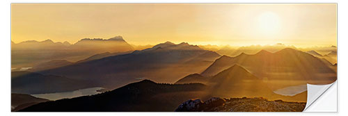
<path fill-rule="evenodd" d="M 302 112 L 337 56 L 336 3 L 12 3 L 8 107 Z"/>

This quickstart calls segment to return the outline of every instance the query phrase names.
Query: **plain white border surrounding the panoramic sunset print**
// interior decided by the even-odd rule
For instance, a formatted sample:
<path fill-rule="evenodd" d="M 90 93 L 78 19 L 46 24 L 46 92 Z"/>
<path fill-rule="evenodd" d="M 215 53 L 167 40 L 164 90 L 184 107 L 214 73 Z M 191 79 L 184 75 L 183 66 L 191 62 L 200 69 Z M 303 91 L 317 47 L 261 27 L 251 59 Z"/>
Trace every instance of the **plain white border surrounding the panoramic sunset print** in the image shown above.
<path fill-rule="evenodd" d="M 1 115 L 348 115 L 347 32 L 348 3 L 346 0 L 2 0 L 1 12 Z M 338 3 L 338 113 L 10 113 L 10 3 Z M 340 60 L 342 59 L 342 60 Z M 346 60 L 344 60 L 346 59 Z M 340 91 L 343 89 L 342 91 Z M 342 99 L 340 99 L 342 98 Z"/>

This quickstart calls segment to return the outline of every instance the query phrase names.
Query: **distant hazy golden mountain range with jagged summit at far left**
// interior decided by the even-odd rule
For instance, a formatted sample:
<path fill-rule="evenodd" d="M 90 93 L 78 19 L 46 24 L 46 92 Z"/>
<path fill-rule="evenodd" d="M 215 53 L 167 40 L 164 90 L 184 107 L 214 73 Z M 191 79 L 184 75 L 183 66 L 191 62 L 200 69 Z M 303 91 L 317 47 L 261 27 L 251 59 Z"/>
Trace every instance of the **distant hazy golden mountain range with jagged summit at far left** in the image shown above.
<path fill-rule="evenodd" d="M 121 36 L 108 40 L 82 39 L 79 42 L 53 42 L 35 40 L 14 43 L 11 42 L 11 67 L 33 67 L 50 60 L 69 60 L 76 62 L 97 53 L 133 51 L 134 48 L 125 42 Z"/>

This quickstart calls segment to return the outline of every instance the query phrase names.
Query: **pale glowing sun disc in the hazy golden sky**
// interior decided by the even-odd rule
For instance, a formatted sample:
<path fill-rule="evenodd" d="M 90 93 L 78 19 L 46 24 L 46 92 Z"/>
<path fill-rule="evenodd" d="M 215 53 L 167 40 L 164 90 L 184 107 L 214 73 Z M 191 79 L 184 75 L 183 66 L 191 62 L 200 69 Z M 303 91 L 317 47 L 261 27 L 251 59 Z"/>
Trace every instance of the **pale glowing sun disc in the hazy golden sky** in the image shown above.
<path fill-rule="evenodd" d="M 280 19 L 276 13 L 265 12 L 258 15 L 257 24 L 260 33 L 274 35 L 279 31 Z"/>

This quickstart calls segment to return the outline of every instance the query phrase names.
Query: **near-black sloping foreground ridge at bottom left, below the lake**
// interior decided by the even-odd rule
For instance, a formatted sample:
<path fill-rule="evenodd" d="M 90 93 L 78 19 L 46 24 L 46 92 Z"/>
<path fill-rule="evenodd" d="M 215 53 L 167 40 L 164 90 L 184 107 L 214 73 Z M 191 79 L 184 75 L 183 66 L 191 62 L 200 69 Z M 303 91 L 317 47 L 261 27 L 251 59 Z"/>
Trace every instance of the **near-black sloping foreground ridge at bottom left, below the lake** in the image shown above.
<path fill-rule="evenodd" d="M 102 94 L 38 103 L 19 111 L 174 111 L 183 101 L 202 96 L 204 90 L 200 83 L 172 85 L 144 80 Z"/>

